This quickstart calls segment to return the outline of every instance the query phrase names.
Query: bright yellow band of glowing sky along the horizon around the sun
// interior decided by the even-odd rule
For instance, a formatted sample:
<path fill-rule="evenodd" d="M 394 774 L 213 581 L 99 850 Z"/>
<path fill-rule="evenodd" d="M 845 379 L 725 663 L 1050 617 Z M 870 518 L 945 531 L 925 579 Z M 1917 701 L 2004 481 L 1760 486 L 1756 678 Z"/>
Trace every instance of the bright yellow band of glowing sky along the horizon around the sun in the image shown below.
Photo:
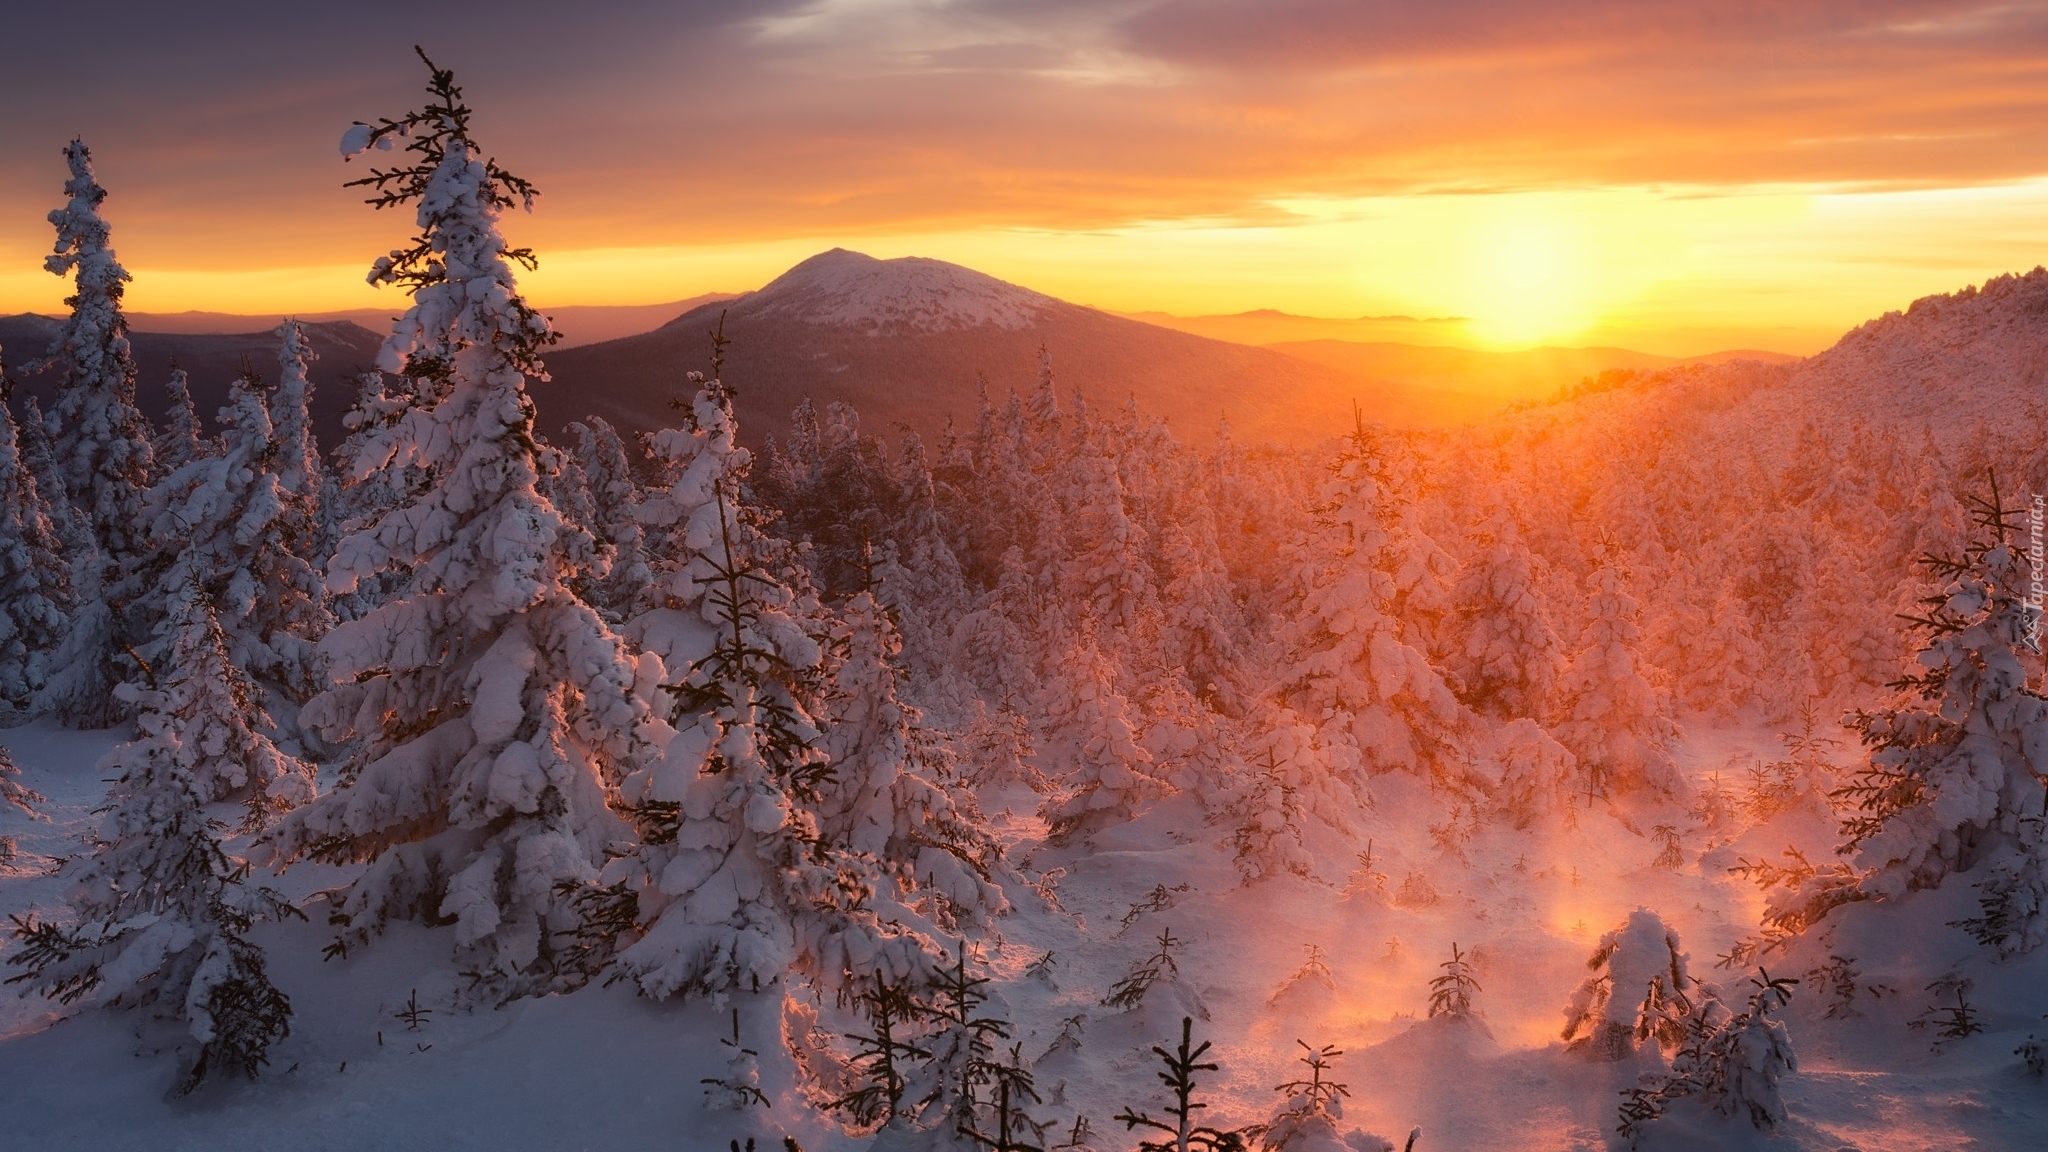
<path fill-rule="evenodd" d="M 160 221 L 123 221 L 135 312 L 403 307 L 367 260 L 215 266 Z M 1112 230 L 963 228 L 580 246 L 573 221 L 508 221 L 541 252 L 520 287 L 545 307 L 629 305 L 760 287 L 834 246 L 934 256 L 1110 312 L 1468 318 L 1444 342 L 1614 344 L 1659 355 L 1815 353 L 1929 293 L 2025 271 L 2048 250 L 2048 180 L 1974 189 L 1569 189 L 1278 199 L 1257 215 Z M 18 248 L 18 246 L 16 246 Z M 0 252 L 0 312 L 59 314 L 41 254 Z M 1421 340 L 1430 342 L 1430 340 Z"/>

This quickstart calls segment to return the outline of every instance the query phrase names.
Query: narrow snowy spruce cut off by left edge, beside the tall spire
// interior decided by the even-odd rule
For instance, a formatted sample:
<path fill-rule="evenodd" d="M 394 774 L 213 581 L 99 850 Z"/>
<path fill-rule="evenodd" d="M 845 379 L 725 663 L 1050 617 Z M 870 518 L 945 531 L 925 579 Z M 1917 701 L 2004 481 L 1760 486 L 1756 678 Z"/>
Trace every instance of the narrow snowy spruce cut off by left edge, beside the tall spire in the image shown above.
<path fill-rule="evenodd" d="M 0 715 L 35 703 L 72 613 L 72 578 L 49 500 L 20 453 L 0 367 Z"/>

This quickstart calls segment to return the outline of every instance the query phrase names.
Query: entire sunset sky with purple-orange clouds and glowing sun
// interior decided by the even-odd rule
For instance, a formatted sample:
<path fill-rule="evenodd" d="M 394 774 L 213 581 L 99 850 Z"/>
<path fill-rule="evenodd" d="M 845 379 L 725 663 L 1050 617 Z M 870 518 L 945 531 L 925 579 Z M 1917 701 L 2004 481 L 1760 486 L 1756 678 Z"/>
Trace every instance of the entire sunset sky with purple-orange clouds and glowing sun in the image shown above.
<path fill-rule="evenodd" d="M 2048 4 L 121 8 L 104 84 L 0 78 L 0 312 L 61 307 L 39 264 L 72 133 L 133 310 L 391 307 L 362 269 L 410 221 L 340 189 L 336 139 L 418 96 L 414 41 L 547 193 L 508 221 L 545 305 L 846 246 L 1118 312 L 1810 353 L 2048 258 Z"/>

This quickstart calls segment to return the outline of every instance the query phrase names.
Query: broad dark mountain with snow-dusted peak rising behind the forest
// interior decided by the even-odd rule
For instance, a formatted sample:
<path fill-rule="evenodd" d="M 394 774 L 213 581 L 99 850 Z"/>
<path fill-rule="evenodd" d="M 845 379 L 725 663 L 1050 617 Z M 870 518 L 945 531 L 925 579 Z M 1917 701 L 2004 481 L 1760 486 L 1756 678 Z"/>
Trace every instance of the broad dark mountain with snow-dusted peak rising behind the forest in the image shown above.
<path fill-rule="evenodd" d="M 1354 398 L 1368 412 L 1399 400 L 1395 385 L 1110 316 L 944 260 L 834 248 L 653 332 L 553 351 L 555 379 L 535 389 L 543 422 L 594 412 L 629 433 L 666 426 L 682 373 L 707 367 L 719 328 L 739 433 L 756 443 L 780 433 L 805 398 L 817 408 L 852 404 L 874 435 L 936 439 L 948 416 L 973 426 L 981 383 L 997 404 L 1012 387 L 1034 387 L 1040 351 L 1053 355 L 1063 402 L 1075 392 L 1112 408 L 1135 398 L 1171 414 L 1192 441 L 1229 416 L 1249 441 L 1315 443 L 1346 426 Z"/>

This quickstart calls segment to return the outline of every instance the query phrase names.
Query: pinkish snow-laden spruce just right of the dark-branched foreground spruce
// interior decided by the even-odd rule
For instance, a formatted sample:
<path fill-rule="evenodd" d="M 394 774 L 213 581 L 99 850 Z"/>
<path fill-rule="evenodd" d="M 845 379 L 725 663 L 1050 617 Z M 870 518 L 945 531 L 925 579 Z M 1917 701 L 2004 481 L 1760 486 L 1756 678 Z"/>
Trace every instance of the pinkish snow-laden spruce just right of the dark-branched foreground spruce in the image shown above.
<path fill-rule="evenodd" d="M 903 699 L 895 623 L 870 592 L 836 615 L 823 707 L 831 779 L 819 785 L 817 830 L 893 871 L 905 894 L 938 898 L 942 927 L 985 927 L 1008 910 L 991 879 L 1001 847 L 956 787 L 944 736 Z"/>

